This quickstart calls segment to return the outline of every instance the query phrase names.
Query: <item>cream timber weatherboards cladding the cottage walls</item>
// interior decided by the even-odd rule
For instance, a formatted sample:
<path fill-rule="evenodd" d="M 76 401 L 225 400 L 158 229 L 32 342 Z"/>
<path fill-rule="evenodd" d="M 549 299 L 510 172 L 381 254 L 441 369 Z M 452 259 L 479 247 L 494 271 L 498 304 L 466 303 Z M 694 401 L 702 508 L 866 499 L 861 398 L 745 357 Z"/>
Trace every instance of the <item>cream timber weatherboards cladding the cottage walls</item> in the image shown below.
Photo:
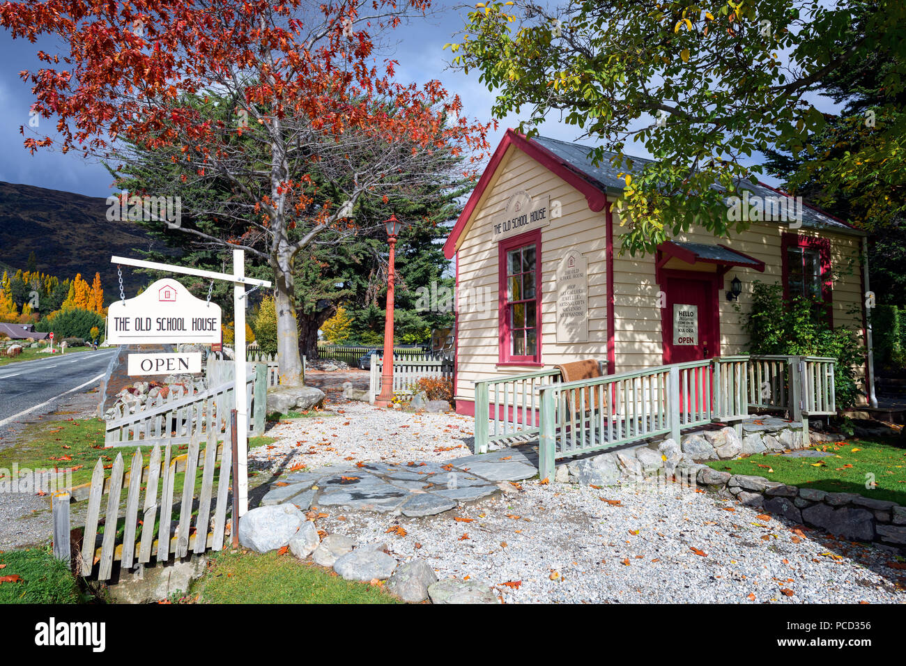
<path fill-rule="evenodd" d="M 562 212 L 561 217 L 552 216 L 550 222 L 541 227 L 541 361 L 544 368 L 528 363 L 502 365 L 499 362 L 499 244 L 493 240 L 492 223 L 506 209 L 508 199 L 520 190 L 525 190 L 535 200 L 549 197 L 551 208 L 557 202 Z M 613 200 L 608 198 L 608 205 Z M 653 254 L 635 257 L 620 254 L 622 236 L 627 230 L 621 227 L 616 212 L 612 218 L 614 372 L 641 370 L 663 362 L 661 313 L 658 307 L 658 293 L 662 285 L 657 282 Z M 458 400 L 474 400 L 474 381 L 550 369 L 556 363 L 577 358 L 607 359 L 606 225 L 607 208 L 600 212 L 591 210 L 579 190 L 515 146 L 506 149 L 458 237 Z M 729 239 L 715 237 L 700 229 L 692 230 L 674 240 L 721 244 L 766 265 L 763 273 L 742 266 L 730 267 L 719 285 L 717 300 L 722 354 L 747 351 L 744 323 L 751 307 L 752 284 L 755 280 L 768 284 L 782 282 L 785 232 L 830 240 L 834 325 L 852 326 L 862 333 L 859 237 L 759 222 L 751 223 L 747 230 L 735 233 Z M 588 262 L 587 343 L 556 341 L 555 276 L 561 259 L 571 249 L 580 252 Z M 684 267 L 689 268 L 689 265 Z M 710 272 L 714 270 L 714 265 L 697 264 L 692 268 Z M 730 302 L 726 297 L 729 282 L 734 276 L 738 276 L 743 285 L 738 311 L 736 302 Z"/>

